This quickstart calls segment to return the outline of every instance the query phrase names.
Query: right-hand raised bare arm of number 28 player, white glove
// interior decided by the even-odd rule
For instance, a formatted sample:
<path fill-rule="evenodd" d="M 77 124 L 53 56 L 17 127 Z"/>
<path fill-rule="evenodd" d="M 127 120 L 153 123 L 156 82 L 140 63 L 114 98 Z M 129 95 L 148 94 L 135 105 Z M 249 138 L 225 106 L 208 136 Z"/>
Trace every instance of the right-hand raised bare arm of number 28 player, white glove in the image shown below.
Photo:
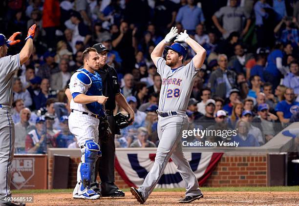
<path fill-rule="evenodd" d="M 195 66 L 195 69 L 200 69 L 206 58 L 206 50 L 199 43 L 191 39 L 186 30 L 184 31 L 184 33 L 181 32 L 174 41 L 184 41 L 193 49 L 193 51 L 196 53 L 196 55 L 192 59 L 193 64 Z"/>

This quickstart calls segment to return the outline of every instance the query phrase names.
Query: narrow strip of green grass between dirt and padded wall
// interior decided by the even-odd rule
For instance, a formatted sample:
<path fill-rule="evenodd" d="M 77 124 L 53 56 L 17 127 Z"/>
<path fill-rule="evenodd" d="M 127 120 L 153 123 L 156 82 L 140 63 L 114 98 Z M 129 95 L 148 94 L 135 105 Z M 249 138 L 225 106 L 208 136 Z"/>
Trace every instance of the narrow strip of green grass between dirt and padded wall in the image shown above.
<path fill-rule="evenodd" d="M 220 192 L 220 191 L 246 191 L 246 192 L 269 192 L 269 191 L 299 191 L 299 186 L 271 186 L 271 187 L 200 187 L 203 192 Z M 123 191 L 128 192 L 129 188 L 123 189 Z M 185 188 L 173 188 L 164 189 L 157 188 L 156 192 L 184 192 Z M 72 193 L 73 189 L 26 189 L 26 190 L 13 190 L 13 194 L 25 194 L 25 193 Z"/>

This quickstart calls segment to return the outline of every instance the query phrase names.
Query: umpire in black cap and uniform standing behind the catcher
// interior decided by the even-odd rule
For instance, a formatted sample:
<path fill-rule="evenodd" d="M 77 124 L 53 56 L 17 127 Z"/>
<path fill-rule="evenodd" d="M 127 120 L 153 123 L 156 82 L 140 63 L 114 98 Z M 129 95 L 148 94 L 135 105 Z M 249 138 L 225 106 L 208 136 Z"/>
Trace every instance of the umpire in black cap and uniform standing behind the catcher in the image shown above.
<path fill-rule="evenodd" d="M 97 72 L 101 75 L 102 78 L 103 95 L 109 97 L 107 102 L 105 103 L 105 110 L 107 114 L 107 120 L 109 122 L 109 127 L 112 133 L 112 135 L 105 141 L 102 141 L 102 138 L 99 137 L 102 157 L 98 158 L 98 161 L 96 163 L 94 181 L 96 182 L 97 174 L 99 173 L 101 179 L 101 195 L 103 197 L 124 197 L 125 193 L 114 184 L 114 135 L 120 134 L 119 128 L 116 126 L 113 117 L 113 110 L 116 106 L 115 102 L 129 113 L 129 120 L 134 120 L 134 111 L 128 105 L 125 97 L 121 94 L 120 85 L 118 84 L 118 78 L 115 69 L 105 63 L 107 61 L 107 54 L 109 50 L 102 43 L 94 44 L 92 47 L 95 48 L 100 55 L 100 69 Z M 99 134 L 100 133 L 101 132 L 99 132 Z M 100 188 L 99 185 L 96 185 L 95 183 L 92 185 L 95 185 L 95 188 L 93 187 L 95 191 L 97 190 L 97 187 Z"/>

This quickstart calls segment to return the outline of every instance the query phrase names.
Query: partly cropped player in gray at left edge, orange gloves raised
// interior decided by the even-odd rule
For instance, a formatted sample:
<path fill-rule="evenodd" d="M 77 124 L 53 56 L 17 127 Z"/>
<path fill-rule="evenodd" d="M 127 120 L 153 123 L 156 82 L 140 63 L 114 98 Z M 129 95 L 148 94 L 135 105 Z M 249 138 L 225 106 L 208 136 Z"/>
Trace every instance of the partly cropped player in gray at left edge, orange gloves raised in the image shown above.
<path fill-rule="evenodd" d="M 11 198 L 10 167 L 14 158 L 15 124 L 11 117 L 11 105 L 13 101 L 13 76 L 21 69 L 21 64 L 31 56 L 36 24 L 28 30 L 26 43 L 17 55 L 7 54 L 8 46 L 14 45 L 20 40 L 15 37 L 20 32 L 14 33 L 7 41 L 0 34 L 0 206 L 24 206 L 24 203 L 14 202 Z"/>

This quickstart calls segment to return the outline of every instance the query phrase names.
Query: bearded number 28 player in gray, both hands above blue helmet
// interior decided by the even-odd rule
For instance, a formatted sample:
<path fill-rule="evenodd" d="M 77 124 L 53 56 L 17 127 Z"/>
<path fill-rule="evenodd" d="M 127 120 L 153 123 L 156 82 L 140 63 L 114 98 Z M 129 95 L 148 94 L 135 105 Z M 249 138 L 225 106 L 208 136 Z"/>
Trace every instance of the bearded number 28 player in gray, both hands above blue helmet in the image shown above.
<path fill-rule="evenodd" d="M 174 37 L 176 37 L 175 43 L 166 46 Z M 187 49 L 177 43 L 178 41 L 186 42 L 196 53 L 186 66 L 183 65 L 183 61 L 187 56 Z M 166 61 L 162 58 L 164 48 L 167 50 Z M 188 129 L 189 121 L 186 115 L 188 101 L 194 78 L 205 60 L 206 51 L 189 37 L 186 30 L 178 35 L 176 27 L 172 27 L 170 33 L 154 48 L 150 56 L 162 78 L 157 111 L 160 143 L 154 165 L 143 185 L 138 189 L 131 187 L 130 191 L 139 203 L 145 203 L 171 158 L 177 166 L 187 190 L 185 198 L 180 199 L 179 202 L 190 203 L 203 197 L 203 194 L 198 188 L 198 181 L 189 162 L 183 155 L 181 138 L 182 131 Z"/>

